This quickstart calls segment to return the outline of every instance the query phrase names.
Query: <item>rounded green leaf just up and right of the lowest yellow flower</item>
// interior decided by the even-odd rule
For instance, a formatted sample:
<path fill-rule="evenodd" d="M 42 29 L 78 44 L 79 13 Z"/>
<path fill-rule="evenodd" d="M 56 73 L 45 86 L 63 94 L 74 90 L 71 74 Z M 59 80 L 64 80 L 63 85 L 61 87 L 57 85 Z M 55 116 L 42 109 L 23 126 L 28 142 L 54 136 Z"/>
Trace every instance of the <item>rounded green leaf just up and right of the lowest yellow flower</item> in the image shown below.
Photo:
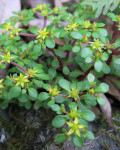
<path fill-rule="evenodd" d="M 95 114 L 90 110 L 82 111 L 82 118 L 86 121 L 93 121 L 95 119 Z"/>

